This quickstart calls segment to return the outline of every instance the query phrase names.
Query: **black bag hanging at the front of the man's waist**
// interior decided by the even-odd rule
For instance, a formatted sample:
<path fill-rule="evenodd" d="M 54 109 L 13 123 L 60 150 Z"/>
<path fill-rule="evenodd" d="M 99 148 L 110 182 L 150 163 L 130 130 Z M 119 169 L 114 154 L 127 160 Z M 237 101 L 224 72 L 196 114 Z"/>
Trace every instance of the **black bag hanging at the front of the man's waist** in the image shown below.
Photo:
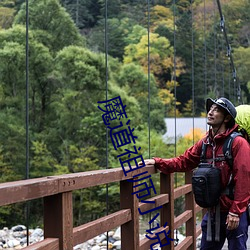
<path fill-rule="evenodd" d="M 200 163 L 192 176 L 195 202 L 203 208 L 214 207 L 221 195 L 221 170 L 210 163 Z"/>

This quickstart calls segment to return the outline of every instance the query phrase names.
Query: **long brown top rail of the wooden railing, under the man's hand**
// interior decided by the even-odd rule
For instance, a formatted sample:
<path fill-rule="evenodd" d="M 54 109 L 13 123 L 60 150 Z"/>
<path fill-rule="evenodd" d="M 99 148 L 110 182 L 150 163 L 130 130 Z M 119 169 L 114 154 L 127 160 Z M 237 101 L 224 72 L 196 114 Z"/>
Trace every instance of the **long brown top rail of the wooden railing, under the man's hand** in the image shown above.
<path fill-rule="evenodd" d="M 119 182 L 144 171 L 148 171 L 149 174 L 156 173 L 154 166 L 145 166 L 128 173 L 127 176 L 122 168 L 115 168 L 0 183 L 0 206 Z"/>

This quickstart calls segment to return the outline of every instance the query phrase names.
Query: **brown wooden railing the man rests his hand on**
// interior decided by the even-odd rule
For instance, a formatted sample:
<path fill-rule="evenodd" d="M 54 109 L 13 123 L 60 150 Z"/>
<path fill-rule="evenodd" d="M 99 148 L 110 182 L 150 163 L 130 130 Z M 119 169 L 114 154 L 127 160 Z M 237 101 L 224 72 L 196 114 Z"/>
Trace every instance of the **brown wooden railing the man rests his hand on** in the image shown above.
<path fill-rule="evenodd" d="M 133 171 L 133 176 L 148 171 L 155 174 L 153 166 Z M 190 183 L 191 173 L 186 174 L 186 184 L 174 189 L 173 174 L 160 174 L 160 194 L 150 198 L 154 203 L 140 203 L 136 195 L 132 172 L 127 176 L 121 168 L 81 172 L 59 176 L 48 176 L 0 184 L 0 206 L 43 198 L 44 240 L 23 249 L 25 250 L 72 250 L 77 244 L 86 242 L 101 233 L 121 226 L 122 250 L 148 250 L 153 240 L 139 240 L 139 211 L 149 211 L 162 205 L 159 210 L 161 228 L 170 230 L 169 238 L 174 238 L 174 230 L 186 224 L 186 238 L 174 247 L 174 242 L 161 249 L 196 249 L 196 238 L 201 229 L 196 226 L 196 214 L 201 210 L 195 205 Z M 74 190 L 89 188 L 112 182 L 120 182 L 120 210 L 95 221 L 73 227 Z M 185 196 L 185 212 L 174 217 L 174 200 Z M 164 228 L 167 222 L 167 226 Z M 164 234 L 161 236 L 164 245 Z"/>

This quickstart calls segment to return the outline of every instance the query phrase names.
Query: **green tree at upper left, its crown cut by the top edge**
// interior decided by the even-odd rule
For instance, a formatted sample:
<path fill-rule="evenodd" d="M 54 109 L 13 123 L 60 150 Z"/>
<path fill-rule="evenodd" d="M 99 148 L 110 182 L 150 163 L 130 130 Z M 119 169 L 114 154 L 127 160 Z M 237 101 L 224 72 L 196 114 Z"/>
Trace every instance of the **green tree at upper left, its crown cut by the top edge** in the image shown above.
<path fill-rule="evenodd" d="M 36 39 L 53 52 L 69 45 L 84 45 L 79 30 L 58 0 L 29 1 L 29 20 Z M 26 24 L 25 3 L 15 17 L 16 24 Z"/>

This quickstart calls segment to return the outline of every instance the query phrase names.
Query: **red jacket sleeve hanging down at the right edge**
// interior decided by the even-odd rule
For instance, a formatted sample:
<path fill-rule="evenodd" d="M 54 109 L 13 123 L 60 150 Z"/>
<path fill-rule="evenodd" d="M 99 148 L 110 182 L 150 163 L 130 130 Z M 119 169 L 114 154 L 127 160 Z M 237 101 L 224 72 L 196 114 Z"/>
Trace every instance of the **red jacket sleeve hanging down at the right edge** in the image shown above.
<path fill-rule="evenodd" d="M 242 214 L 250 201 L 250 145 L 238 136 L 233 141 L 234 201 L 230 212 Z"/>

